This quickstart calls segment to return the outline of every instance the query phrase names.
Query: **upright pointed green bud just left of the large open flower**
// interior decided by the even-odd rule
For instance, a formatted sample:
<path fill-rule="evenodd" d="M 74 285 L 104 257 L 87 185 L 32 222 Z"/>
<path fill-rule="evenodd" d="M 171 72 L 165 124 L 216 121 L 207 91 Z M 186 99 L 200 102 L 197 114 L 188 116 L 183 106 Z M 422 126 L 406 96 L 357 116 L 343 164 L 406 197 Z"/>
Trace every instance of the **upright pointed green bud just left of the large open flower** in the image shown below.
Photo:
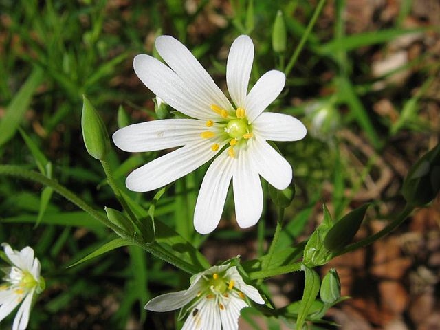
<path fill-rule="evenodd" d="M 109 133 L 107 133 L 98 111 L 85 96 L 83 96 L 81 128 L 83 129 L 83 139 L 89 155 L 95 159 L 104 159 L 110 150 Z"/>

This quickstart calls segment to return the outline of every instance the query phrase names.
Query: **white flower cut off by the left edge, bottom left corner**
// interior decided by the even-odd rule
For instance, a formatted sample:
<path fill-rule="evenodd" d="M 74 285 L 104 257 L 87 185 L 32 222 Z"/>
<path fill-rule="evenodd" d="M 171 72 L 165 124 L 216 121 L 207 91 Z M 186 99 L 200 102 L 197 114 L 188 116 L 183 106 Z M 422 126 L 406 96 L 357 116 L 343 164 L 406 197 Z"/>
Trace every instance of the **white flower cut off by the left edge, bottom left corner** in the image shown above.
<path fill-rule="evenodd" d="M 34 258 L 34 250 L 29 246 L 21 251 L 12 250 L 9 244 L 3 243 L 5 254 L 12 267 L 3 268 L 5 283 L 0 285 L 0 322 L 23 302 L 17 311 L 12 330 L 24 330 L 28 327 L 30 307 L 35 292 L 39 294 L 45 287 L 40 276 L 39 259 Z"/>

